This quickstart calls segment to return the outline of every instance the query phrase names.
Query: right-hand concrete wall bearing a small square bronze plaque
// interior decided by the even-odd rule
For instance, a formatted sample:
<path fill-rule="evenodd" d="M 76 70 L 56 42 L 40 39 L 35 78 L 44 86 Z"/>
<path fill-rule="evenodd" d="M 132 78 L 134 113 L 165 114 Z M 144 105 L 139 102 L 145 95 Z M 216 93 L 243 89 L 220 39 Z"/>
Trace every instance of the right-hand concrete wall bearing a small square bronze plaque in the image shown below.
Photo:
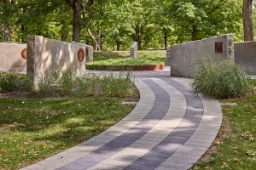
<path fill-rule="evenodd" d="M 171 64 L 171 75 L 191 78 L 195 75 L 199 60 L 219 63 L 233 59 L 233 40 L 233 35 L 228 34 L 171 46 L 167 58 L 167 63 Z"/>

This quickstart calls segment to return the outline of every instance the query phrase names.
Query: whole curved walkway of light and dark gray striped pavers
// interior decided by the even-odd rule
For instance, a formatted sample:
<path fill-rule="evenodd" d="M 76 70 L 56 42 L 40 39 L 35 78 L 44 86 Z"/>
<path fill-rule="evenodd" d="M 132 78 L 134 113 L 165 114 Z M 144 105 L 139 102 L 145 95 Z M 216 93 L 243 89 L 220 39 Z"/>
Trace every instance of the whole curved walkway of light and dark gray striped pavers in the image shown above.
<path fill-rule="evenodd" d="M 189 79 L 166 71 L 135 73 L 141 99 L 107 131 L 25 169 L 189 169 L 211 146 L 222 122 L 216 100 L 192 94 Z"/>

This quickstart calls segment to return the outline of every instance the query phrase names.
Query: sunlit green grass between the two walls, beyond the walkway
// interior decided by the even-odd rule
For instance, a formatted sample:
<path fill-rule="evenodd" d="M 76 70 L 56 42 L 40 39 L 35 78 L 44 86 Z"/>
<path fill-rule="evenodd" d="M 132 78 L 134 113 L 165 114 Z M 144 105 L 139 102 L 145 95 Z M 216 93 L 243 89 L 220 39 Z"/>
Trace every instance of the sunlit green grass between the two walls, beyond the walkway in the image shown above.
<path fill-rule="evenodd" d="M 102 51 L 94 53 L 94 62 L 87 63 L 87 69 L 96 68 L 98 65 L 123 66 L 123 65 L 164 65 L 166 51 L 139 51 L 138 58 L 132 59 L 128 51 Z"/>

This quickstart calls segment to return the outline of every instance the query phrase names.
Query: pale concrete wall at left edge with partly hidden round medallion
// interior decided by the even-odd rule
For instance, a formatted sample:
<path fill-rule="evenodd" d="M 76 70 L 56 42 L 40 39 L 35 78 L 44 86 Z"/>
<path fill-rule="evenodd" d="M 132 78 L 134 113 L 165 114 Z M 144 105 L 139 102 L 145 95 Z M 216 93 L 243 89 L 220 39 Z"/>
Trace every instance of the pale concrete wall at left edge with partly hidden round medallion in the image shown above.
<path fill-rule="evenodd" d="M 0 42 L 0 71 L 26 73 L 26 43 Z"/>

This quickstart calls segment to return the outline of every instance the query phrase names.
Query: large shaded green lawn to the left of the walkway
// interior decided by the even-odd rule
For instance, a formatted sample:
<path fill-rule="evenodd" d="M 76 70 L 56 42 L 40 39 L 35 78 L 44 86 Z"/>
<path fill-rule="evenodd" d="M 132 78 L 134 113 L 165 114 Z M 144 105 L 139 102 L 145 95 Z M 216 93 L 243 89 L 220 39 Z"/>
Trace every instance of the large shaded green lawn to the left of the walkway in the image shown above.
<path fill-rule="evenodd" d="M 17 169 L 90 139 L 131 112 L 131 99 L 0 99 L 0 169 Z M 134 99 L 133 99 L 134 100 Z"/>

